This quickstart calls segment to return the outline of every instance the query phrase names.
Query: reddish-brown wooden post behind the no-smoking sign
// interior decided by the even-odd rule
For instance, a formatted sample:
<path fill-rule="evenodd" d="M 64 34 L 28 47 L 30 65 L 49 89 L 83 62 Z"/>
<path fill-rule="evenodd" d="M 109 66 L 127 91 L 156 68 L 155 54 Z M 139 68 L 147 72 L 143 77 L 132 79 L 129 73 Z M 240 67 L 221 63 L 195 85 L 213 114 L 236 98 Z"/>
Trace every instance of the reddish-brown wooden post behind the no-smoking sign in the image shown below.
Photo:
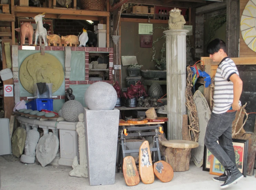
<path fill-rule="evenodd" d="M 3 69 L 6 69 L 6 57 L 4 52 L 4 43 L 10 42 L 10 46 L 12 46 L 12 40 L 11 39 L 2 39 L 2 56 L 3 56 Z M 4 80 L 3 81 L 3 87 L 5 84 L 13 84 L 13 78 Z M 14 95 L 13 95 L 14 96 Z M 4 111 L 6 111 L 6 118 L 11 118 L 13 108 L 14 108 L 14 97 L 3 97 L 4 102 Z"/>

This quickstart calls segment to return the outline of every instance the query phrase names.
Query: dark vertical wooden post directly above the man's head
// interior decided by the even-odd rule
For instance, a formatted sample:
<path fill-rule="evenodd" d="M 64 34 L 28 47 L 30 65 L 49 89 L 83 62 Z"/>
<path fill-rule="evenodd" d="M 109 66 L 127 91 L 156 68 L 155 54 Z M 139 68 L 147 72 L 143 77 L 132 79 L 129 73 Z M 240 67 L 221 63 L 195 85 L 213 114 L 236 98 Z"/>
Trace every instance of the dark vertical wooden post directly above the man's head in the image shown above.
<path fill-rule="evenodd" d="M 227 22 L 226 22 L 226 46 L 229 57 L 238 57 L 240 14 L 239 0 L 226 0 Z"/>

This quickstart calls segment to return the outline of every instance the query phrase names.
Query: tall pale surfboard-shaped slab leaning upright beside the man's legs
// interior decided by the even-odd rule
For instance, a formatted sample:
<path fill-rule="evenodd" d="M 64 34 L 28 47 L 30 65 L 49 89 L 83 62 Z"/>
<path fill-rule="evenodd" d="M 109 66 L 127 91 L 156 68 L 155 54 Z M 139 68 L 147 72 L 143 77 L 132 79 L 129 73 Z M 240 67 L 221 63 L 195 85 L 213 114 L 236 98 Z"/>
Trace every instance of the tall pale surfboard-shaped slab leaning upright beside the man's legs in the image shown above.
<path fill-rule="evenodd" d="M 199 90 L 195 92 L 193 99 L 197 107 L 200 133 L 199 133 L 199 139 L 198 139 L 199 147 L 191 150 L 191 157 L 195 162 L 196 166 L 201 167 L 203 164 L 203 148 L 205 145 L 204 143 L 205 132 L 206 132 L 208 120 L 211 117 L 211 111 L 205 97 Z"/>

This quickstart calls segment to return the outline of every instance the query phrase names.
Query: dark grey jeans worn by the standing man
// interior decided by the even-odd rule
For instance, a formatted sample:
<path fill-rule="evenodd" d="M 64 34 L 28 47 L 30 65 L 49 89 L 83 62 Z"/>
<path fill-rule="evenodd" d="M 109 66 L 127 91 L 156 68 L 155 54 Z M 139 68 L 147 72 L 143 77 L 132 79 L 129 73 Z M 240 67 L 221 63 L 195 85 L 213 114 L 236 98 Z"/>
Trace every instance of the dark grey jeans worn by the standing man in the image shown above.
<path fill-rule="evenodd" d="M 229 158 L 228 154 L 217 143 L 219 137 L 230 127 L 230 125 L 232 125 L 234 117 L 232 117 L 232 115 L 229 116 L 229 113 L 212 113 L 206 128 L 205 145 L 209 149 L 209 151 L 219 160 L 219 162 L 224 166 L 226 170 L 228 169 L 237 173 L 236 170 L 238 169 L 236 168 L 235 163 Z M 226 140 L 225 143 L 227 143 Z"/>

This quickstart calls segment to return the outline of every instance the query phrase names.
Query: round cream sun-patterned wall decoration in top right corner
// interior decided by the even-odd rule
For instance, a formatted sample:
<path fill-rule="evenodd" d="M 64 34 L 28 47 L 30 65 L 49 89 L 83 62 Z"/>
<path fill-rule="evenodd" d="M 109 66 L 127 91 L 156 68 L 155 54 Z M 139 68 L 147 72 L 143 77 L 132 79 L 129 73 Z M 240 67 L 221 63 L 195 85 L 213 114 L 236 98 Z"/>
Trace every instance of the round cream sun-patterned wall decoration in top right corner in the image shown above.
<path fill-rule="evenodd" d="M 256 0 L 249 0 L 241 16 L 240 29 L 247 46 L 256 52 Z"/>

